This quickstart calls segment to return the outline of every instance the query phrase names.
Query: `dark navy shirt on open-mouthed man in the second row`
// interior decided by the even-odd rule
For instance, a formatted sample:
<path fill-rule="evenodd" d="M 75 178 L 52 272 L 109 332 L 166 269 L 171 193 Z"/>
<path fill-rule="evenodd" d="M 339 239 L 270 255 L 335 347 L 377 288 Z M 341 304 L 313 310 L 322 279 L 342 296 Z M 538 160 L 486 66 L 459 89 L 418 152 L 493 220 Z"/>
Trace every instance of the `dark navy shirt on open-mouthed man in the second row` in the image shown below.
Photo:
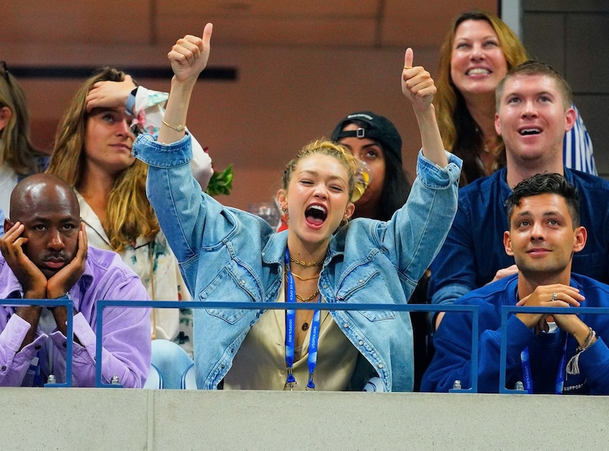
<path fill-rule="evenodd" d="M 499 169 L 459 190 L 453 226 L 431 265 L 433 304 L 452 304 L 514 264 L 503 246 L 506 199 L 512 194 L 506 174 L 506 168 Z M 565 178 L 578 189 L 580 221 L 588 232 L 585 247 L 573 256 L 572 271 L 609 284 L 609 182 L 567 168 Z"/>

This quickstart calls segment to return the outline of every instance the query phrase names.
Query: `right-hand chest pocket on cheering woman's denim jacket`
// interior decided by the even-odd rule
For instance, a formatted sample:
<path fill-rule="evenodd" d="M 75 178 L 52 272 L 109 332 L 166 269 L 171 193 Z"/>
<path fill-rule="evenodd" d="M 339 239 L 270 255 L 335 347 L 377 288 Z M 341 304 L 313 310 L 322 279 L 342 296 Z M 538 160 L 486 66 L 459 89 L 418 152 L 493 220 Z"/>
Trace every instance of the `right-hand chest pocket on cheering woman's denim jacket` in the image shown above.
<path fill-rule="evenodd" d="M 362 289 L 364 289 L 362 291 Z M 370 296 L 369 293 L 374 293 Z M 353 269 L 337 290 L 337 301 L 350 304 L 389 304 L 392 303 L 390 290 L 381 274 L 371 264 L 362 264 Z M 388 310 L 360 310 L 369 321 L 393 319 L 397 313 Z"/>

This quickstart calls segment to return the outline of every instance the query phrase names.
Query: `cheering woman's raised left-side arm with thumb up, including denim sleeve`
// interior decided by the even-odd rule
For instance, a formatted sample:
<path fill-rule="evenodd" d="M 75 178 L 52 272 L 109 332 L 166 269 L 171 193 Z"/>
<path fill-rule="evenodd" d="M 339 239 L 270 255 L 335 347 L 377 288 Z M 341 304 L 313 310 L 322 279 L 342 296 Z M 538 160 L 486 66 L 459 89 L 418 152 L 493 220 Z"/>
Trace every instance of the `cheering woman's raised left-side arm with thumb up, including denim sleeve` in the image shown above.
<path fill-rule="evenodd" d="M 211 34 L 212 25 L 207 24 L 203 37 L 187 35 L 169 51 L 174 77 L 164 124 L 158 137 L 143 134 L 133 144 L 133 155 L 149 164 L 147 196 L 178 262 L 197 255 L 206 239 L 216 244 L 233 230 L 233 216 L 220 214 L 223 205 L 210 196 L 201 196 L 185 164 L 192 159 L 190 133 L 185 135 L 184 128 L 187 110 L 194 85 L 209 58 Z M 208 227 L 210 221 L 215 226 Z M 192 271 L 185 277 L 191 290 L 196 267 L 192 266 Z"/>

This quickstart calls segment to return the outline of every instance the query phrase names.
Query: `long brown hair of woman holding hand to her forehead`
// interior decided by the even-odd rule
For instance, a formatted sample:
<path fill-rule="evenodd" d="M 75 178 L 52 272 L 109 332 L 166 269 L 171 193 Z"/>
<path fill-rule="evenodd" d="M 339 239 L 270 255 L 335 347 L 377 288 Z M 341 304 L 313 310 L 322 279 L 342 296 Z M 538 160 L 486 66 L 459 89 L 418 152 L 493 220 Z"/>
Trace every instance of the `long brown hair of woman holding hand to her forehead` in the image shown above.
<path fill-rule="evenodd" d="M 88 115 L 85 99 L 98 81 L 122 81 L 125 74 L 104 67 L 87 79 L 78 89 L 60 121 L 55 148 L 47 172 L 53 173 L 78 189 L 83 185 L 85 167 L 85 130 Z M 139 238 L 151 239 L 160 228 L 156 215 L 146 197 L 147 164 L 140 160 L 119 173 L 108 194 L 103 230 L 110 239 L 112 249 L 120 252 Z"/>

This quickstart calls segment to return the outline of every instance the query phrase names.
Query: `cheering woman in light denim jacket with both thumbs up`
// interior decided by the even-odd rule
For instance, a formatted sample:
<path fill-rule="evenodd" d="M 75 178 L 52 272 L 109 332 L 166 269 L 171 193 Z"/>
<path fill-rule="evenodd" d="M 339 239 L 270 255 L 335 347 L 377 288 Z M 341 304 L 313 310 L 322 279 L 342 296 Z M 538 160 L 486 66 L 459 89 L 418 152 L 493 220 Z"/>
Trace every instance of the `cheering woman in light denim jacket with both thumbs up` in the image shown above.
<path fill-rule="evenodd" d="M 147 194 L 194 298 L 261 303 L 258 311 L 196 310 L 197 386 L 216 389 L 224 381 L 224 389 L 361 390 L 379 377 L 379 389 L 412 390 L 408 314 L 265 311 L 262 303 L 407 302 L 456 211 L 460 160 L 442 148 L 433 80 L 411 67 L 408 49 L 402 90 L 423 148 L 408 202 L 390 221 L 349 221 L 358 162 L 340 145 L 312 142 L 283 172 L 277 201 L 289 228 L 276 233 L 257 216 L 201 196 L 185 170 L 187 109 L 211 35 L 207 24 L 203 37 L 187 35 L 173 46 L 165 126 L 133 146 L 150 164 Z"/>

